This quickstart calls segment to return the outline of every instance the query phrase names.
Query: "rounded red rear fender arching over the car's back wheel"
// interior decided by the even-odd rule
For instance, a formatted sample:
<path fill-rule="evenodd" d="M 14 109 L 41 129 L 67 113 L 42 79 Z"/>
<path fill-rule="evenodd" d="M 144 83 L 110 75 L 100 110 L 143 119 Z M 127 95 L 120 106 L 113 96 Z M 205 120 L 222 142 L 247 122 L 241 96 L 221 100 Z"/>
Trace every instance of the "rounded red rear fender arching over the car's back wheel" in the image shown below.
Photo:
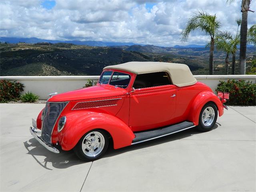
<path fill-rule="evenodd" d="M 188 121 L 193 122 L 194 125 L 198 125 L 200 112 L 203 106 L 208 102 L 214 102 L 218 108 L 219 116 L 223 115 L 224 111 L 220 99 L 213 92 L 203 91 L 200 92 L 192 102 Z"/>

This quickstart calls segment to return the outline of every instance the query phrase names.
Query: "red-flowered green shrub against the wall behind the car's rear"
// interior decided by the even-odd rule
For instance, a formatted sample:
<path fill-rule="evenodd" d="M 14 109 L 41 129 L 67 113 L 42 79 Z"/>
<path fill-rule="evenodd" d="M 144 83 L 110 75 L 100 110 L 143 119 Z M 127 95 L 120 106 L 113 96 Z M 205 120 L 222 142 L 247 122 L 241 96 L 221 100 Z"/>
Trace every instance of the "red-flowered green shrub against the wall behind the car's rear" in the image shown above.
<path fill-rule="evenodd" d="M 256 84 L 245 80 L 220 81 L 216 92 L 229 92 L 227 105 L 256 105 Z"/>

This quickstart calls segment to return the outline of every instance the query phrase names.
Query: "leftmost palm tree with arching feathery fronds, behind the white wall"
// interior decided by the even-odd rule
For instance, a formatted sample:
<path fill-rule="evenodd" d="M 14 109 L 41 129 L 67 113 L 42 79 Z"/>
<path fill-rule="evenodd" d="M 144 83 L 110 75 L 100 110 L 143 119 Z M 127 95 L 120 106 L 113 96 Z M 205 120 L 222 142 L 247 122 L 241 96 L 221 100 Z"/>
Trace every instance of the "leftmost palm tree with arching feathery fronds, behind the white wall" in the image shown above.
<path fill-rule="evenodd" d="M 209 56 L 209 74 L 213 75 L 213 52 L 214 52 L 214 38 L 220 28 L 220 21 L 217 20 L 216 15 L 210 15 L 203 11 L 198 11 L 192 14 L 188 19 L 186 28 L 181 32 L 181 41 L 188 40 L 188 36 L 194 30 L 205 32 L 210 35 L 210 56 Z"/>

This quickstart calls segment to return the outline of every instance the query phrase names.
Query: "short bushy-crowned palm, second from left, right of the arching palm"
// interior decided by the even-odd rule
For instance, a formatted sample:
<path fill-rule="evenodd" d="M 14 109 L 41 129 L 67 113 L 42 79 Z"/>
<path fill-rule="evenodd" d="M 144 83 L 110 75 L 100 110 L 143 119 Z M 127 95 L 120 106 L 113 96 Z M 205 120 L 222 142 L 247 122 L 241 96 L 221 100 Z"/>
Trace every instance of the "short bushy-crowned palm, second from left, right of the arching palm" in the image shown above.
<path fill-rule="evenodd" d="M 233 40 L 232 35 L 228 31 L 220 32 L 220 34 L 218 34 L 215 39 L 216 48 L 218 50 L 226 52 L 226 58 L 225 58 L 225 64 L 226 64 L 225 74 L 226 75 L 228 75 L 228 65 L 229 65 L 228 57 L 233 48 L 232 40 Z"/>

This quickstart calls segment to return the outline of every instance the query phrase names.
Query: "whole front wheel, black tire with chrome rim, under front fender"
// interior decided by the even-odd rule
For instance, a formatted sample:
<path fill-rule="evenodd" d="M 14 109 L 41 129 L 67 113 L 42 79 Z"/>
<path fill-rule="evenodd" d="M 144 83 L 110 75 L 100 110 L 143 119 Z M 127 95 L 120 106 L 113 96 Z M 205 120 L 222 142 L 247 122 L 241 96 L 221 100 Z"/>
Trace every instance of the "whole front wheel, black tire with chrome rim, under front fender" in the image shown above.
<path fill-rule="evenodd" d="M 74 147 L 74 153 L 84 161 L 100 158 L 108 149 L 108 134 L 104 130 L 95 129 L 82 136 Z"/>

